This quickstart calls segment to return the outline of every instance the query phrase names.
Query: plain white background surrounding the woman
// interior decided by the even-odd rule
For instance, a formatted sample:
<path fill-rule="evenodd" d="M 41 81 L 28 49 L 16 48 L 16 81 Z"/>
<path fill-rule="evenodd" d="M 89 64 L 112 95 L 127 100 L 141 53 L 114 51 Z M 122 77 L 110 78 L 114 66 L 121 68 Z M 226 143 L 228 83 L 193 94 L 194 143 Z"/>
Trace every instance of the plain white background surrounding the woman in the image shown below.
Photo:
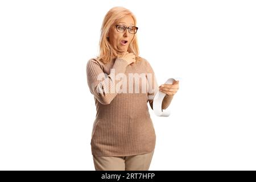
<path fill-rule="evenodd" d="M 138 20 L 170 117 L 150 114 L 150 170 L 256 169 L 255 1 L 1 1 L 0 169 L 94 170 L 86 63 L 114 6 Z"/>

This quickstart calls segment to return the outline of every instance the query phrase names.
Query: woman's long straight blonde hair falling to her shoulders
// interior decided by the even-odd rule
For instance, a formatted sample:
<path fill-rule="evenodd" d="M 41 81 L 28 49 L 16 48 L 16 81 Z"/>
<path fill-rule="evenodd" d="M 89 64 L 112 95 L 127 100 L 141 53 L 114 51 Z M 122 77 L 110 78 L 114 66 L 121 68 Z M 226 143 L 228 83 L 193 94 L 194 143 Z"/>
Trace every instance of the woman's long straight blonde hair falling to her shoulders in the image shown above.
<path fill-rule="evenodd" d="M 100 37 L 100 55 L 97 56 L 99 60 L 103 63 L 108 63 L 111 59 L 115 57 L 114 49 L 112 45 L 109 43 L 107 36 L 110 31 L 110 27 L 113 26 L 114 23 L 121 18 L 124 18 L 127 15 L 131 15 L 134 20 L 134 24 L 136 26 L 137 20 L 133 13 L 130 10 L 127 10 L 125 7 L 117 6 L 113 7 L 108 11 L 105 15 L 105 18 L 102 22 L 101 26 L 101 37 Z M 141 57 L 139 57 L 139 47 L 138 47 L 138 40 L 136 34 L 134 34 L 134 38 L 129 44 L 127 49 L 128 52 L 134 53 L 136 61 L 139 61 Z"/>

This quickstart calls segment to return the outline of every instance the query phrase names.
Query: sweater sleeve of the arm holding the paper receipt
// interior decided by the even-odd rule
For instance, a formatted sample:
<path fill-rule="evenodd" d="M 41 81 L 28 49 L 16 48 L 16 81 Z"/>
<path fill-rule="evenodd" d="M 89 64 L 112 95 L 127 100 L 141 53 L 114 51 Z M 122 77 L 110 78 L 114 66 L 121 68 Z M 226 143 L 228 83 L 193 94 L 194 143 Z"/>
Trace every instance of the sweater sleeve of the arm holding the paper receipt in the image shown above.
<path fill-rule="evenodd" d="M 158 88 L 158 82 L 156 80 L 155 77 L 155 73 L 150 65 L 150 63 L 148 63 L 148 61 L 146 60 L 146 75 L 147 75 L 147 82 L 148 82 L 148 102 L 150 103 L 150 107 L 153 110 L 153 102 L 154 102 L 154 97 L 155 94 L 158 92 L 159 88 Z M 166 109 L 172 101 L 172 98 L 174 96 L 168 96 L 166 94 L 166 96 L 164 96 L 163 102 L 162 102 L 162 110 Z"/>

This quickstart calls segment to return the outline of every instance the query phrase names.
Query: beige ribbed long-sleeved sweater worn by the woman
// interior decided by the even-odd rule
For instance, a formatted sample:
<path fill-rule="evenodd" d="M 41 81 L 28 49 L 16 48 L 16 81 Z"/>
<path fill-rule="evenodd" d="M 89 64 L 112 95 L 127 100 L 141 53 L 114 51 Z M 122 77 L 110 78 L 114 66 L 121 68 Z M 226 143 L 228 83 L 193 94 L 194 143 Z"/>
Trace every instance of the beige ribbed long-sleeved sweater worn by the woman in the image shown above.
<path fill-rule="evenodd" d="M 104 64 L 97 60 L 98 57 L 90 59 L 86 64 L 87 82 L 97 110 L 90 142 L 92 155 L 139 155 L 151 152 L 155 148 L 156 135 L 147 102 L 153 109 L 153 98 L 159 89 L 151 65 L 146 59 L 140 58 L 141 60 L 133 65 L 127 65 L 126 60 L 121 58 Z M 114 74 L 110 69 L 114 70 Z M 106 73 L 105 77 L 98 78 L 102 73 Z M 120 85 L 122 81 L 121 78 L 117 79 L 118 73 L 123 73 L 127 77 L 126 93 L 119 92 L 123 86 L 117 86 L 118 82 Z M 146 80 L 149 80 L 148 75 L 152 75 L 152 82 L 147 81 L 147 93 L 142 92 L 142 81 L 138 83 L 135 79 L 128 79 L 129 73 L 145 73 Z M 132 93 L 129 93 L 129 81 L 133 83 Z M 135 83 L 139 93 L 134 91 Z M 111 92 L 112 89 L 114 92 Z M 152 90 L 154 92 L 151 92 Z M 170 105 L 172 97 L 164 97 L 162 109 Z"/>

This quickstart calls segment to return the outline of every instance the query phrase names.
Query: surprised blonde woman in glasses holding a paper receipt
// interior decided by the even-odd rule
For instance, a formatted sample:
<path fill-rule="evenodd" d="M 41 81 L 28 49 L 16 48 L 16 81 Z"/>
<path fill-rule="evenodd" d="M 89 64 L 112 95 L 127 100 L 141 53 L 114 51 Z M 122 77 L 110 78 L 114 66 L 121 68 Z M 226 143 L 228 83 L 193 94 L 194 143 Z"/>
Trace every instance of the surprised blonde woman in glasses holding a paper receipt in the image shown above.
<path fill-rule="evenodd" d="M 152 108 L 161 90 L 166 109 L 179 89 L 178 81 L 158 88 L 151 65 L 139 56 L 136 24 L 131 11 L 110 9 L 101 27 L 100 55 L 86 65 L 97 109 L 90 143 L 96 170 L 148 170 L 156 136 L 147 102 Z"/>

